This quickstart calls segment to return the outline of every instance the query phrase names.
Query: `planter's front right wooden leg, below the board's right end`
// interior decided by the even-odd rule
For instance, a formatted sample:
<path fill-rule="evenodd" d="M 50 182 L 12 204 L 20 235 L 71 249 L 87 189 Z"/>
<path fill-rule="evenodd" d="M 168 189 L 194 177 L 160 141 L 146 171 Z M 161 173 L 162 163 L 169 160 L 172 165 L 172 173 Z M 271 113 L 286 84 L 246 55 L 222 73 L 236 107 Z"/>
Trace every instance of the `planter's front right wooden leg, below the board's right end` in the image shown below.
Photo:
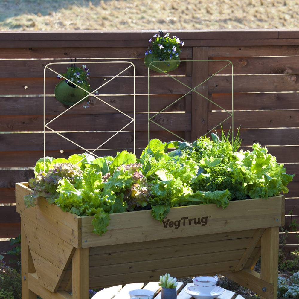
<path fill-rule="evenodd" d="M 279 227 L 266 228 L 261 244 L 261 279 L 270 284 L 270 298 L 277 299 Z M 260 299 L 264 299 L 260 294 Z"/>

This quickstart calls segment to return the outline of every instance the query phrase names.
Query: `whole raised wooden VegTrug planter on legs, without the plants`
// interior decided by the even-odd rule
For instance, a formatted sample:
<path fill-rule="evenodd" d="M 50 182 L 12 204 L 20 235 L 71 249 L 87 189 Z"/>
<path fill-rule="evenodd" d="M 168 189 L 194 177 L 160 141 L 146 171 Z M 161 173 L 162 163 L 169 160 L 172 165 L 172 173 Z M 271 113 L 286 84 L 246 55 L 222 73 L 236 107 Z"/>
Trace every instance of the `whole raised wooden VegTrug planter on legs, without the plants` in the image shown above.
<path fill-rule="evenodd" d="M 111 214 L 103 236 L 93 217 L 62 212 L 39 197 L 25 208 L 28 183 L 16 184 L 22 225 L 22 299 L 87 299 L 88 290 L 174 277 L 223 274 L 277 297 L 278 229 L 284 196 L 171 208 L 163 223 L 150 210 Z M 252 269 L 261 257 L 261 274 Z M 66 291 L 72 291 L 73 296 Z"/>

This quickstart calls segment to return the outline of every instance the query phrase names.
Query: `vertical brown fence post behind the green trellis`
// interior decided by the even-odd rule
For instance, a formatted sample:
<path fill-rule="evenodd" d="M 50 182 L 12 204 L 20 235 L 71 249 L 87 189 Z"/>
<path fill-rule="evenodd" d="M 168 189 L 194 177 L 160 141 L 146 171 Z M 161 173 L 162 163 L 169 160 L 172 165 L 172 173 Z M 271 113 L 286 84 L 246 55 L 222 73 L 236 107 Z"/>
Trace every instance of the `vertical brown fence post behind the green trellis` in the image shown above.
<path fill-rule="evenodd" d="M 208 60 L 208 47 L 193 47 L 192 60 Z M 208 79 L 208 62 L 192 62 L 192 88 Z M 200 94 L 208 97 L 208 82 L 196 88 Z M 192 92 L 191 100 L 191 141 L 207 133 L 208 100 Z"/>

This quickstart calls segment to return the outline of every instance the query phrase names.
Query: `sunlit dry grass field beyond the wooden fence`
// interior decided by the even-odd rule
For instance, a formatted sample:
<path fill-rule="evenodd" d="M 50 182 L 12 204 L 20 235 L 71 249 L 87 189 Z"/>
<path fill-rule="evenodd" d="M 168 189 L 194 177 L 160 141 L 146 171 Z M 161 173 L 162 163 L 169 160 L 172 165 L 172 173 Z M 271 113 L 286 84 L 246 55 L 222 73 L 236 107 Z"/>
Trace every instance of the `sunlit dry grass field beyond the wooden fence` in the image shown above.
<path fill-rule="evenodd" d="M 2 0 L 0 30 L 299 28 L 299 0 Z"/>

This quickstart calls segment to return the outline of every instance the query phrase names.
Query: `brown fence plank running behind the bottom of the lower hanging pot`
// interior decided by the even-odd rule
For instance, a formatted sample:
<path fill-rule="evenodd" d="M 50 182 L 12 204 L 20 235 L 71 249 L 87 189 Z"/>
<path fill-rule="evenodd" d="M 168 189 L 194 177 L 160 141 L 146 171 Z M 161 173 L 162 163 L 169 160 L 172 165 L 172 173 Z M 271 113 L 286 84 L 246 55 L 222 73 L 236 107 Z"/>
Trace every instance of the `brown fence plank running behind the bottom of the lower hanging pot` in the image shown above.
<path fill-rule="evenodd" d="M 169 111 L 185 111 L 188 99 L 182 95 L 150 95 L 150 112 L 169 112 Z M 181 98 L 179 100 L 179 98 Z M 35 115 L 43 113 L 43 96 L 40 97 L 1 97 L 0 111 L 1 115 Z M 103 100 L 104 102 L 102 102 Z M 69 106 L 60 103 L 55 97 L 45 97 L 45 114 L 56 114 L 65 112 L 65 114 L 105 114 L 115 113 L 116 109 L 124 113 L 132 113 L 134 111 L 134 97 L 126 96 L 100 96 L 89 97 L 88 109 L 83 108 L 85 103 L 76 105 L 65 112 Z M 113 107 L 111 107 L 111 106 Z M 148 112 L 148 95 L 137 95 L 135 97 L 136 113 Z"/>

